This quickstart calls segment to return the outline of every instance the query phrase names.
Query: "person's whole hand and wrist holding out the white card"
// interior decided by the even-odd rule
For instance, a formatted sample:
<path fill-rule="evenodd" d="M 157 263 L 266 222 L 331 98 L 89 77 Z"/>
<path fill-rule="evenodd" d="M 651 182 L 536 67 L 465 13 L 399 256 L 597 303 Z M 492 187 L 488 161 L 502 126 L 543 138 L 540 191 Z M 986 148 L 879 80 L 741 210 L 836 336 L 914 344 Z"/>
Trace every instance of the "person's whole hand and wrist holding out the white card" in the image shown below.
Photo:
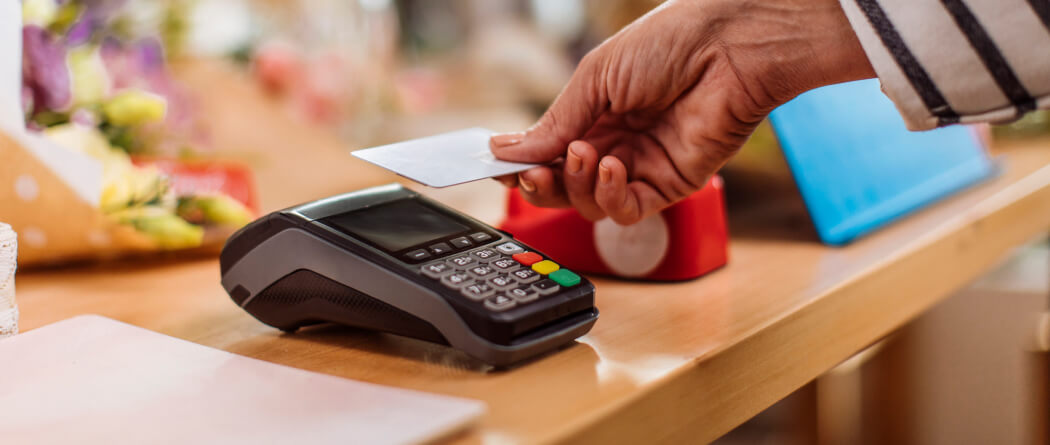
<path fill-rule="evenodd" d="M 590 51 L 528 131 L 490 146 L 546 165 L 500 178 L 528 202 L 627 225 L 704 187 L 776 106 L 874 76 L 838 0 L 672 0 Z"/>

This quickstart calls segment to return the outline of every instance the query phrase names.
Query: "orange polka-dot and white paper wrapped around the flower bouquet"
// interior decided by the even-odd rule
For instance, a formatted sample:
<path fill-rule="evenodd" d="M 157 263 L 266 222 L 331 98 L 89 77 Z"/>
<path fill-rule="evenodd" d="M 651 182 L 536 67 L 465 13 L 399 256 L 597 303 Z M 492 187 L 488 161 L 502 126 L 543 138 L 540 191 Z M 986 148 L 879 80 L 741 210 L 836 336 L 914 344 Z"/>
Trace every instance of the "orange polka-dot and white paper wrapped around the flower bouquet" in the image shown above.
<path fill-rule="evenodd" d="M 99 163 L 25 130 L 21 17 L 20 2 L 0 3 L 0 220 L 9 225 L 8 231 L 14 229 L 10 273 L 14 233 L 22 234 L 23 266 L 148 249 L 149 239 L 109 222 L 98 210 Z M 7 254 L 0 250 L 0 260 Z M 0 280 L 7 277 L 4 271 L 0 269 Z M 10 292 L 13 299 L 14 281 Z M 0 295 L 0 310 L 7 309 L 4 304 Z"/>

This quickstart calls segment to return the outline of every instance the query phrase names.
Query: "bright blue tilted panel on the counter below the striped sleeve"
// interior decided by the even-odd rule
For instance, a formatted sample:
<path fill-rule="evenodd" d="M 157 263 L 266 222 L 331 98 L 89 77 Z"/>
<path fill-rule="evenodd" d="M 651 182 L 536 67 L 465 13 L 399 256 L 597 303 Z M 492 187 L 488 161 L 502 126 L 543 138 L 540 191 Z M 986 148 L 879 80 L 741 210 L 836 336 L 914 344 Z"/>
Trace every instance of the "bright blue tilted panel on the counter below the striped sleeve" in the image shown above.
<path fill-rule="evenodd" d="M 995 174 L 972 128 L 908 131 L 877 80 L 805 92 L 770 119 L 828 245 L 849 242 Z"/>

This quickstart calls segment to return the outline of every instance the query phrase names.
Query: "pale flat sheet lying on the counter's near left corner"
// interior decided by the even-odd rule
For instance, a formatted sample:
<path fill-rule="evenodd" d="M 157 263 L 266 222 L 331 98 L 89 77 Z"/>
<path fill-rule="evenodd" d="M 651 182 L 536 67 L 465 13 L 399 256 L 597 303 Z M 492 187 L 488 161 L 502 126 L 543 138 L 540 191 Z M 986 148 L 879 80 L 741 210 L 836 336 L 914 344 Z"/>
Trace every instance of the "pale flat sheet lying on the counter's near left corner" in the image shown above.
<path fill-rule="evenodd" d="M 485 410 L 88 315 L 0 340 L 0 388 L 4 444 L 415 444 Z"/>

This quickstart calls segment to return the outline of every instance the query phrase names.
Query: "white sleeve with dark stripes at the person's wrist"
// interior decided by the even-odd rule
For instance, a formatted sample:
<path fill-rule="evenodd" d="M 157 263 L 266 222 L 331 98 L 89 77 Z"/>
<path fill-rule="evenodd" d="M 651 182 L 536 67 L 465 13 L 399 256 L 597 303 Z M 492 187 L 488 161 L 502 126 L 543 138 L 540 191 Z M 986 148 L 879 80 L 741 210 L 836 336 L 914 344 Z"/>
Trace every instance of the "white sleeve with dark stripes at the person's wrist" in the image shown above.
<path fill-rule="evenodd" d="M 840 0 L 912 130 L 1050 108 L 1050 0 Z"/>

